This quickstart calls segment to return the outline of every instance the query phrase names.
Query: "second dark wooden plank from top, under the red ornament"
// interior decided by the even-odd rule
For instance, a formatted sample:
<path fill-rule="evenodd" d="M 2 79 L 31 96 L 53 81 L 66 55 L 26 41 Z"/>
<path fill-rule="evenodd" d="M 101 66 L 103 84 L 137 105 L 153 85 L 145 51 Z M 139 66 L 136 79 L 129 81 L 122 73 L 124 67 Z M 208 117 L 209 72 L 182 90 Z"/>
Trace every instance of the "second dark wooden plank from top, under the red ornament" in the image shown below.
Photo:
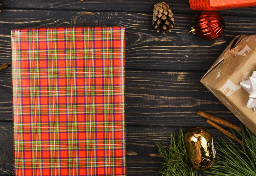
<path fill-rule="evenodd" d="M 33 14 L 33 15 L 32 15 Z M 4 10 L 0 18 L 0 62 L 11 62 L 10 31 L 42 26 L 124 26 L 126 67 L 138 69 L 199 70 L 206 72 L 241 33 L 254 34 L 256 18 L 224 17 L 226 30 L 214 41 L 187 33 L 194 17 L 177 15 L 175 28 L 166 36 L 151 25 L 149 13 Z M 238 21 L 240 24 L 238 25 Z"/>

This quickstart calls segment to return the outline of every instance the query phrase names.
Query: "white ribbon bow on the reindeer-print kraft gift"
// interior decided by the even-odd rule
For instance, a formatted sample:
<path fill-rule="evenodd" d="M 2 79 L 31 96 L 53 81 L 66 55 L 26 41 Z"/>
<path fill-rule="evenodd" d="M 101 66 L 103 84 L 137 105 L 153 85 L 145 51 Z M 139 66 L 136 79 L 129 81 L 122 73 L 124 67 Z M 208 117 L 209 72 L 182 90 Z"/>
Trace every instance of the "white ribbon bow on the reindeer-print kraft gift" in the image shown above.
<path fill-rule="evenodd" d="M 253 72 L 248 80 L 240 82 L 240 86 L 250 94 L 247 107 L 253 108 L 254 112 L 256 112 L 256 71 Z"/>

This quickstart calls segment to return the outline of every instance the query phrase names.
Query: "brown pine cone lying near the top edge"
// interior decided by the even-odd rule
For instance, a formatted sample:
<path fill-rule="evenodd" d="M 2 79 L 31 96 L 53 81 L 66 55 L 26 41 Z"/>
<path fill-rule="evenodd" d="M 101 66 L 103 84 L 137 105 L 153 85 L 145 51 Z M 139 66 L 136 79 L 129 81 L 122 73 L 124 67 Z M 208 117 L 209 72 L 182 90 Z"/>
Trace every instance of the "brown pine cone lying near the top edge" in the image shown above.
<path fill-rule="evenodd" d="M 154 5 L 153 13 L 153 26 L 157 29 L 157 32 L 163 30 L 163 34 L 166 34 L 166 31 L 171 32 L 170 27 L 174 27 L 174 18 L 172 10 L 169 8 L 168 4 L 165 2 L 158 2 Z"/>

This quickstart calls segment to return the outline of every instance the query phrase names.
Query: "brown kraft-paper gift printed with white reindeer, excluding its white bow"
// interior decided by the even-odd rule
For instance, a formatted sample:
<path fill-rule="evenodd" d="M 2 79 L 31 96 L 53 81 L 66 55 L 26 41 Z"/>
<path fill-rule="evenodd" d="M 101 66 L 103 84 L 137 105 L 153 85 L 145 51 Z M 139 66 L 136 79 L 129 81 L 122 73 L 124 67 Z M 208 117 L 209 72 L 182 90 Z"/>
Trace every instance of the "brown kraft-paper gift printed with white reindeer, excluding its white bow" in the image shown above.
<path fill-rule="evenodd" d="M 256 113 L 247 107 L 249 93 L 240 86 L 254 71 L 256 35 L 239 35 L 203 76 L 201 83 L 256 135 Z"/>

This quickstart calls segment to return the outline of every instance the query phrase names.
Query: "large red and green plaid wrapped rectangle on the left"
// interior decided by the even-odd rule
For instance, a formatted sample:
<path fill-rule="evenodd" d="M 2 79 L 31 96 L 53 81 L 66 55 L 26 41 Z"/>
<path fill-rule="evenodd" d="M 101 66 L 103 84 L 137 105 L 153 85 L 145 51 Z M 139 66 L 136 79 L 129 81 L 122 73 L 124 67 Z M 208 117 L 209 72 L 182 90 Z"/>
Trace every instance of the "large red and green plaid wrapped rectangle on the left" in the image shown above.
<path fill-rule="evenodd" d="M 19 29 L 11 41 L 15 175 L 126 175 L 125 29 Z"/>

